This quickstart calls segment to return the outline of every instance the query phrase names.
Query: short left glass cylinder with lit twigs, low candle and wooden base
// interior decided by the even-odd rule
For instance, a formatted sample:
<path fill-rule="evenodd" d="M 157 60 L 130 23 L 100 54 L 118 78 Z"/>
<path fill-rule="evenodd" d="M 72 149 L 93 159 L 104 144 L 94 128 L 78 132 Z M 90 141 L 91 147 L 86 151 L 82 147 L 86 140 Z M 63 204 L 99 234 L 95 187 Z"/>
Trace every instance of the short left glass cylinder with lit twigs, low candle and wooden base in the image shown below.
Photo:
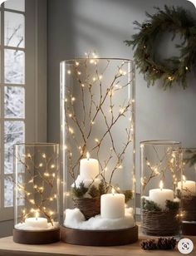
<path fill-rule="evenodd" d="M 59 145 L 14 145 L 14 171 L 13 241 L 59 241 Z"/>

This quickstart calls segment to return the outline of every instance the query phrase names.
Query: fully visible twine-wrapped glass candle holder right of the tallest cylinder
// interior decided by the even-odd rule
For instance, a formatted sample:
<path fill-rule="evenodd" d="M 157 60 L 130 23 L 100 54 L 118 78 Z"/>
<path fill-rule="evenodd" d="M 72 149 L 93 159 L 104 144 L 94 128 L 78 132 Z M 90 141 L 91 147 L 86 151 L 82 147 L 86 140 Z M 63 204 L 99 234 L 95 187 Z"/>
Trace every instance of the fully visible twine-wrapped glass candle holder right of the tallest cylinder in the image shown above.
<path fill-rule="evenodd" d="M 181 144 L 169 140 L 140 142 L 141 227 L 153 236 L 180 234 Z"/>

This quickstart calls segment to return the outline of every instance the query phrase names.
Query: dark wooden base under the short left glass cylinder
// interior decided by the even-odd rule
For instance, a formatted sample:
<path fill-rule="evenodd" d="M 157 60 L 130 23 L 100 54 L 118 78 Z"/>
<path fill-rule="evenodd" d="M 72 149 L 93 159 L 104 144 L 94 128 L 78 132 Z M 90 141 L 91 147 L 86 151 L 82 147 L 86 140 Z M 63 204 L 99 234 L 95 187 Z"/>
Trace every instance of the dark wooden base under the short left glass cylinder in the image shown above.
<path fill-rule="evenodd" d="M 60 229 L 22 230 L 13 229 L 13 242 L 17 244 L 51 244 L 60 241 Z"/>

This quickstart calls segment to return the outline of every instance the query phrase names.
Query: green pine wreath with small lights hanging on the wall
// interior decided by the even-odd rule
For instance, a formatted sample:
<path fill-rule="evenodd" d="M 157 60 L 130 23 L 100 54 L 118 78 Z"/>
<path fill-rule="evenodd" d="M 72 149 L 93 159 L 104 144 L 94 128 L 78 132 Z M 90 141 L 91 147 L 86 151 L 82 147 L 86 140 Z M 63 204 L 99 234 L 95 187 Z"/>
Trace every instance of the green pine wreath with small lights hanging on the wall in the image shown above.
<path fill-rule="evenodd" d="M 187 75 L 193 69 L 196 62 L 196 21 L 190 13 L 182 7 L 167 7 L 150 15 L 147 21 L 134 22 L 135 28 L 140 32 L 126 40 L 128 46 L 135 50 L 134 59 L 140 72 L 144 74 L 148 86 L 161 79 L 164 89 L 178 83 L 185 89 L 187 87 Z M 154 41 L 164 32 L 172 32 L 174 37 L 177 33 L 183 38 L 181 44 L 175 45 L 179 48 L 179 57 L 171 57 L 164 61 L 155 59 Z"/>

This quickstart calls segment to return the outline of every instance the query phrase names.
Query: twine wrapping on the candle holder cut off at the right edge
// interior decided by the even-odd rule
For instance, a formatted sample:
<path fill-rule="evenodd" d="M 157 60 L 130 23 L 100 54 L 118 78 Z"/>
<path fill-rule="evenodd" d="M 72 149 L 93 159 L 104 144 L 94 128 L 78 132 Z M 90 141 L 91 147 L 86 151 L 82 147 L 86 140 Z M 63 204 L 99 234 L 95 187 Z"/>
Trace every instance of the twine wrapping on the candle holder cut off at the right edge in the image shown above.
<path fill-rule="evenodd" d="M 183 220 L 196 222 L 196 195 L 183 196 L 182 210 Z"/>

